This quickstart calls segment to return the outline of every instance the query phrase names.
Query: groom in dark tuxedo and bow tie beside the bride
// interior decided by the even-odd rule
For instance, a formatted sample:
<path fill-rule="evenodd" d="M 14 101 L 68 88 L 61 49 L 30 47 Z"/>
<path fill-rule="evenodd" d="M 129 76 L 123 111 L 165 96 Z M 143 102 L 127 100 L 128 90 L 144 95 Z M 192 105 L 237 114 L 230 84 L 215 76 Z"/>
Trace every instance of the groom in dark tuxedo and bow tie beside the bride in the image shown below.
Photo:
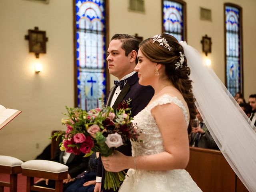
<path fill-rule="evenodd" d="M 111 88 L 106 99 L 106 105 L 112 106 L 116 110 L 118 104 L 123 100 L 131 101 L 132 114 L 135 116 L 146 107 L 154 94 L 151 86 L 141 86 L 138 83 L 138 74 L 134 71 L 137 60 L 137 52 L 139 49 L 139 40 L 128 34 L 114 34 L 108 46 L 108 71 L 116 76 L 119 81 L 115 81 L 115 86 Z M 125 155 L 131 156 L 131 143 L 120 146 L 118 151 Z M 113 192 L 113 189 L 104 189 L 105 170 L 98 158 L 98 168 L 96 185 L 94 192 Z M 116 190 L 118 191 L 118 190 Z"/>

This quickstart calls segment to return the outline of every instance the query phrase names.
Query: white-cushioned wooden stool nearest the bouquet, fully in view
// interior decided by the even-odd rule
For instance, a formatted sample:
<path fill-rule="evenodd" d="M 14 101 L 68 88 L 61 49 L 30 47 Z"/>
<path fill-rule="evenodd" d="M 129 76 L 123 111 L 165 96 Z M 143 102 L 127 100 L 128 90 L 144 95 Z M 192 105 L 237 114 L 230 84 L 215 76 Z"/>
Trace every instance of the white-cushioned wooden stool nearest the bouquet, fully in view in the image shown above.
<path fill-rule="evenodd" d="M 21 165 L 22 175 L 27 176 L 27 192 L 63 191 L 63 179 L 68 178 L 68 166 L 48 160 L 30 160 Z M 55 180 L 55 189 L 34 185 L 34 178 Z"/>

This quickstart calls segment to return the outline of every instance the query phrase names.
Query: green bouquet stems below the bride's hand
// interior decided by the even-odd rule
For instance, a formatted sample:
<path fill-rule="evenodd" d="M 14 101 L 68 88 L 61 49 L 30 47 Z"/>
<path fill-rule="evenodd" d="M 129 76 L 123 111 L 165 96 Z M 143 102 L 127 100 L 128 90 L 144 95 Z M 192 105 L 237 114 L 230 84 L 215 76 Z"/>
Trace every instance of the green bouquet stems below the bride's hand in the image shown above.
<path fill-rule="evenodd" d="M 125 175 L 126 173 L 124 171 L 117 173 L 106 171 L 104 189 L 112 188 L 114 191 L 116 191 L 120 187 L 120 184 L 124 181 Z"/>

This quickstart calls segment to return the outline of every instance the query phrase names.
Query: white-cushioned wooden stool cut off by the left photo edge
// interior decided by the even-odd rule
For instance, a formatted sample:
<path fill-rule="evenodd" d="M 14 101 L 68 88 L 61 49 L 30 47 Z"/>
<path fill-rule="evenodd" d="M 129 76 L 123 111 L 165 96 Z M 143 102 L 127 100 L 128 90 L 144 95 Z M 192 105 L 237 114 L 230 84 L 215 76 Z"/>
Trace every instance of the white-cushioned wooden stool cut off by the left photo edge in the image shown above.
<path fill-rule="evenodd" d="M 15 157 L 0 155 L 0 173 L 10 174 L 10 182 L 0 181 L 0 192 L 4 192 L 4 187 L 9 187 L 10 192 L 17 192 L 17 174 L 21 173 L 22 163 Z"/>

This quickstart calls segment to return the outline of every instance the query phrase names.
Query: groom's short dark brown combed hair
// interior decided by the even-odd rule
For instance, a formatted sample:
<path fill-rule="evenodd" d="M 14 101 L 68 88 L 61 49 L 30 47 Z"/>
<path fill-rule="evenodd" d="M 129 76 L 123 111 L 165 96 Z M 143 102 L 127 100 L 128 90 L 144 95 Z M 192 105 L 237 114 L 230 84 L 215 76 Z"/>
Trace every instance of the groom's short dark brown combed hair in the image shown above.
<path fill-rule="evenodd" d="M 121 48 L 125 52 L 125 56 L 128 56 L 132 50 L 135 50 L 138 53 L 140 41 L 133 35 L 128 34 L 114 34 L 111 38 L 112 40 L 120 40 L 122 42 Z M 138 59 L 136 57 L 136 64 Z"/>

